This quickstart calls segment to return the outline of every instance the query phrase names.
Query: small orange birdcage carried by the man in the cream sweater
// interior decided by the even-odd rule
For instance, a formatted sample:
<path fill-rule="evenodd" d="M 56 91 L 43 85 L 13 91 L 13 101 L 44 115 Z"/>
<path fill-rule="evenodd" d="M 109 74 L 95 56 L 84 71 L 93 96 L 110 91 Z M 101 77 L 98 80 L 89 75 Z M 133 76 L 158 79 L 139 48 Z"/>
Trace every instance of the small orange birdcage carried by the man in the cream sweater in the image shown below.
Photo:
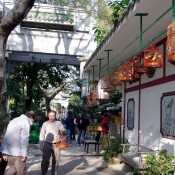
<path fill-rule="evenodd" d="M 59 134 L 60 141 L 56 143 L 56 148 L 68 148 L 68 135 L 66 131 L 60 132 Z"/>

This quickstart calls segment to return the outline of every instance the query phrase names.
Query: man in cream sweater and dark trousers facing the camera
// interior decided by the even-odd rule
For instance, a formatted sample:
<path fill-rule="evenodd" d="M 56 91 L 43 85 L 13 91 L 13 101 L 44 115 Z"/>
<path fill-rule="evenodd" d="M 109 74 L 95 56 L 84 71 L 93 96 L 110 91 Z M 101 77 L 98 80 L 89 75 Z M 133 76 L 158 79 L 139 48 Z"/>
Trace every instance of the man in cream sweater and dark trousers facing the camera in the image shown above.
<path fill-rule="evenodd" d="M 60 121 L 56 120 L 55 111 L 50 111 L 48 118 L 49 120 L 43 123 L 40 131 L 40 150 L 43 152 L 41 175 L 46 175 L 51 155 L 51 175 L 57 175 L 61 150 L 56 148 L 56 143 L 60 142 L 59 133 L 65 131 L 65 128 Z"/>

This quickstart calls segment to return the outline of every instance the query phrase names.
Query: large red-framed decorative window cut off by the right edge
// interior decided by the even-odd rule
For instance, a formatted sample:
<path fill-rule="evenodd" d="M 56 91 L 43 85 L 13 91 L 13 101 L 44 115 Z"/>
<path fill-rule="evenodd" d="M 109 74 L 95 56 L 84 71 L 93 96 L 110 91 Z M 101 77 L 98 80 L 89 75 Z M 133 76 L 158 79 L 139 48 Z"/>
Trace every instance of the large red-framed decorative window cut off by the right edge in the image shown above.
<path fill-rule="evenodd" d="M 162 94 L 160 101 L 160 133 L 175 139 L 175 91 Z"/>

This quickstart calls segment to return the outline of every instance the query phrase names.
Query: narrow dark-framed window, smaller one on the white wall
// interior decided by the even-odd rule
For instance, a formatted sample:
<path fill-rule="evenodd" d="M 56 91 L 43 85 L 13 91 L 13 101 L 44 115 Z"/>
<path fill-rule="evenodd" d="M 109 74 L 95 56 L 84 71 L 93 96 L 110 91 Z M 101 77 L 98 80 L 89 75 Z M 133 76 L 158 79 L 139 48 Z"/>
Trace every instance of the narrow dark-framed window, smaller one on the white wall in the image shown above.
<path fill-rule="evenodd" d="M 135 101 L 134 98 L 128 99 L 127 102 L 127 128 L 128 130 L 134 129 L 134 119 L 135 119 Z"/>

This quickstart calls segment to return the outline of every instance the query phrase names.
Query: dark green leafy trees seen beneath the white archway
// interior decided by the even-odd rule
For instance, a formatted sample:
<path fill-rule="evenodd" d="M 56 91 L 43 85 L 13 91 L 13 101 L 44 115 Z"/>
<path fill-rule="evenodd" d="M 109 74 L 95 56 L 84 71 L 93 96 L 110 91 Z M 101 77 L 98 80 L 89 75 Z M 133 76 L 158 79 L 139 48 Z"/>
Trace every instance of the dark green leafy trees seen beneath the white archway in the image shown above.
<path fill-rule="evenodd" d="M 14 116 L 29 109 L 38 111 L 44 100 L 49 111 L 51 100 L 59 92 L 76 87 L 78 75 L 72 66 L 21 63 L 7 79 L 9 108 Z"/>

